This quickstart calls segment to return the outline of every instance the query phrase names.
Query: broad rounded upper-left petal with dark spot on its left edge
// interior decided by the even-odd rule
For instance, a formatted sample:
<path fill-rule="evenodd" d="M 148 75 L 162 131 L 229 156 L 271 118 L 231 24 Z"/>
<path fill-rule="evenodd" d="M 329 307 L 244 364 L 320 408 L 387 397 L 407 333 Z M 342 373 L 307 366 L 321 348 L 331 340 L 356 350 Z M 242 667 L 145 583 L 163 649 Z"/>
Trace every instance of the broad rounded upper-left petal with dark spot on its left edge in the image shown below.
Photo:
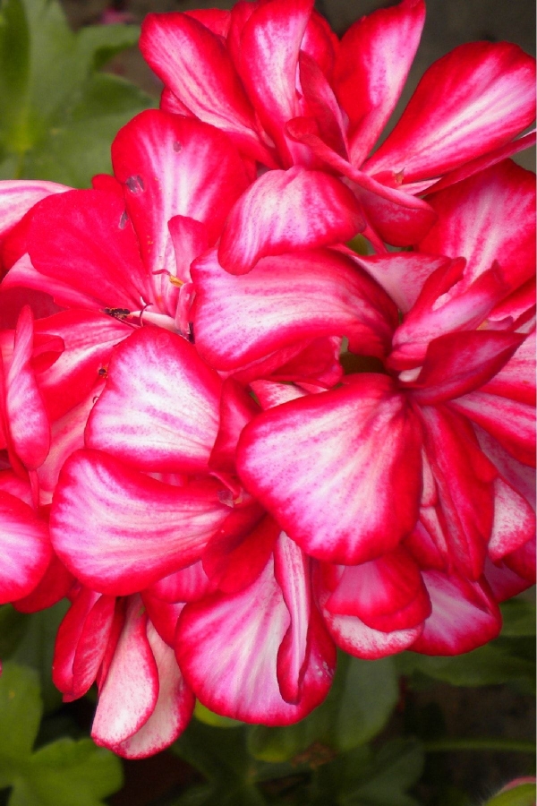
<path fill-rule="evenodd" d="M 176 274 L 168 221 L 184 216 L 203 222 L 214 244 L 227 213 L 250 184 L 231 141 L 212 126 L 158 109 L 141 112 L 119 131 L 112 163 L 125 185 L 142 260 L 151 274 L 166 272 L 166 284 Z"/>

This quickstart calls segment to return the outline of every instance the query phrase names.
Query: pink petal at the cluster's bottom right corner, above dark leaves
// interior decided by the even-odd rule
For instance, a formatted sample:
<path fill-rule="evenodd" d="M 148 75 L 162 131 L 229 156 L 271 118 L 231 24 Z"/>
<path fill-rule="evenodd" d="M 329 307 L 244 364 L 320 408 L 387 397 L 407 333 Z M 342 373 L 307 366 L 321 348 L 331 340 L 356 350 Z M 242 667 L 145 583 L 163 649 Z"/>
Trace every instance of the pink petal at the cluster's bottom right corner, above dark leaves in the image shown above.
<path fill-rule="evenodd" d="M 483 578 L 472 582 L 437 570 L 425 570 L 422 577 L 432 613 L 411 647 L 413 652 L 461 655 L 498 636 L 501 613 Z"/>

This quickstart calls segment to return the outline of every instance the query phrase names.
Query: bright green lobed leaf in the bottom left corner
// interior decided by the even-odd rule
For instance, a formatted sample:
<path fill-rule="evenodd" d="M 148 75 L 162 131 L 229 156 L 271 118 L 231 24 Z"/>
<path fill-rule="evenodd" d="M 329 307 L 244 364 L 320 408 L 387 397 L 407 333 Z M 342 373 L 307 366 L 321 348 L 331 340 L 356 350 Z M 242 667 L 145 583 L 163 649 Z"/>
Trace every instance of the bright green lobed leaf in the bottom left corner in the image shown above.
<path fill-rule="evenodd" d="M 104 806 L 122 785 L 119 759 L 90 739 L 60 739 L 32 753 L 43 706 L 38 673 L 8 662 L 0 678 L 0 788 L 9 806 Z"/>

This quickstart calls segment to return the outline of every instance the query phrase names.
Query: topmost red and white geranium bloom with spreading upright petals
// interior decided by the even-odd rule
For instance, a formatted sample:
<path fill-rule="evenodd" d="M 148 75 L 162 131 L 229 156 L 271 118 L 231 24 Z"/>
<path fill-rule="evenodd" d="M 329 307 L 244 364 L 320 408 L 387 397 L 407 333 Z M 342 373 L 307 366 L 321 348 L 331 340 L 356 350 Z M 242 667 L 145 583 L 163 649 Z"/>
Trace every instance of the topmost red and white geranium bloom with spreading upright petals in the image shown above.
<path fill-rule="evenodd" d="M 406 245 L 434 220 L 416 194 L 524 148 L 532 136 L 513 139 L 534 117 L 534 60 L 507 43 L 463 45 L 430 67 L 369 156 L 403 90 L 424 17 L 422 0 L 403 0 L 338 41 L 312 0 L 240 2 L 231 12 L 149 14 L 141 51 L 165 83 L 164 109 L 226 131 L 269 168 L 337 171 L 375 243 Z"/>

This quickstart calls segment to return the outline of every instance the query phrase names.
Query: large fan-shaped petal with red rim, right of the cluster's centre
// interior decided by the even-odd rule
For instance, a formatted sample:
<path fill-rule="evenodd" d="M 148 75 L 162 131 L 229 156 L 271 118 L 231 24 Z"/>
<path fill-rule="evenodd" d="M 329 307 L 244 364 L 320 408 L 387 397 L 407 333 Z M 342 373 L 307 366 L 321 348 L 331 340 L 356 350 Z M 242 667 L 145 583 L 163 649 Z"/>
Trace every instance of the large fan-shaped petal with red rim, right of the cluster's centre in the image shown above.
<path fill-rule="evenodd" d="M 243 484 L 305 552 L 356 564 L 394 549 L 418 517 L 421 432 L 386 375 L 271 408 L 237 450 Z M 405 474 L 399 472 L 405 462 Z"/>

